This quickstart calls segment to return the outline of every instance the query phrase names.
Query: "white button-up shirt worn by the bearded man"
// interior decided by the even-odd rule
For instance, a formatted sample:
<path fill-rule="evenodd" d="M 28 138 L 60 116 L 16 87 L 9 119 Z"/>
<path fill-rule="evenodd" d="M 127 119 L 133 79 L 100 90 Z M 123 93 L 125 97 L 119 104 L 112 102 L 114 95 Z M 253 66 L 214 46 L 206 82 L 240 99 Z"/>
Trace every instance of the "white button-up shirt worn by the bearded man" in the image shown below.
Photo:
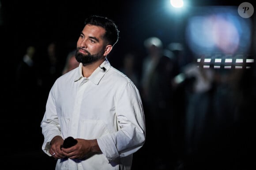
<path fill-rule="evenodd" d="M 85 160 L 58 159 L 56 170 L 129 170 L 132 153 L 145 142 L 138 89 L 107 59 L 100 67 L 85 78 L 80 64 L 60 76 L 50 90 L 41 121 L 42 150 L 51 156 L 49 142 L 60 135 L 97 139 L 102 151 Z"/>

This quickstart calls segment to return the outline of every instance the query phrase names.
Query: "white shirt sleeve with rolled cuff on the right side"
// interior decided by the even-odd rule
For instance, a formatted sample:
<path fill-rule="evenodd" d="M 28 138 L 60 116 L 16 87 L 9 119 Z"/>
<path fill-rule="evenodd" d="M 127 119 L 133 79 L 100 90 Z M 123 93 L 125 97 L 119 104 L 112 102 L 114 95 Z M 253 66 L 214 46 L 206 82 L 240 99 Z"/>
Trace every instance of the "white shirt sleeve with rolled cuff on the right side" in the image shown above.
<path fill-rule="evenodd" d="M 129 156 L 145 142 L 145 118 L 140 94 L 132 82 L 117 92 L 116 115 L 119 130 L 97 139 L 102 153 L 109 162 Z"/>

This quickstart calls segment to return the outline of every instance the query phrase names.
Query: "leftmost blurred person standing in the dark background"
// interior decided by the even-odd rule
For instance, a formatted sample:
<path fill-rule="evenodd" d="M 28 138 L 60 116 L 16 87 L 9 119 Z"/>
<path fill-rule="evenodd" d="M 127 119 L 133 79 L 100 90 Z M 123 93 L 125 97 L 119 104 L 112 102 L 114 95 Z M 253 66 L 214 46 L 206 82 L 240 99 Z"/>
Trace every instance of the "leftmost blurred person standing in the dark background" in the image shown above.
<path fill-rule="evenodd" d="M 15 124 L 22 133 L 18 133 L 19 145 L 26 145 L 31 135 L 34 137 L 34 141 L 30 144 L 30 147 L 22 148 L 25 152 L 31 152 L 40 149 L 38 143 L 42 136 L 38 133 L 41 131 L 38 129 L 38 123 L 41 122 L 40 113 L 43 113 L 43 105 L 41 101 L 42 92 L 42 80 L 38 73 L 37 66 L 37 53 L 34 45 L 29 45 L 26 48 L 26 54 L 24 54 L 22 60 L 19 62 L 16 68 L 16 83 L 15 83 Z M 22 113 L 22 114 L 21 114 Z M 31 117 L 33 119 L 31 119 Z M 16 122 L 17 121 L 17 122 Z M 26 123 L 24 123 L 26 122 Z"/>

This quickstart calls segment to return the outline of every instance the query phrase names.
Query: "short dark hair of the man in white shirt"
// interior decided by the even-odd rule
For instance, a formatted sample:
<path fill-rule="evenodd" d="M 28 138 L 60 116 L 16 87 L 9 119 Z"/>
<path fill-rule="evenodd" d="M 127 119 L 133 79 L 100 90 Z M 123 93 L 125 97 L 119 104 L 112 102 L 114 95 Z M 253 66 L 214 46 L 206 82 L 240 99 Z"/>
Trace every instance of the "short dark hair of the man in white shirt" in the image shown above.
<path fill-rule="evenodd" d="M 109 18 L 98 15 L 92 15 L 85 20 L 85 25 L 96 25 L 106 30 L 104 38 L 114 46 L 119 39 L 119 30 L 117 25 Z"/>

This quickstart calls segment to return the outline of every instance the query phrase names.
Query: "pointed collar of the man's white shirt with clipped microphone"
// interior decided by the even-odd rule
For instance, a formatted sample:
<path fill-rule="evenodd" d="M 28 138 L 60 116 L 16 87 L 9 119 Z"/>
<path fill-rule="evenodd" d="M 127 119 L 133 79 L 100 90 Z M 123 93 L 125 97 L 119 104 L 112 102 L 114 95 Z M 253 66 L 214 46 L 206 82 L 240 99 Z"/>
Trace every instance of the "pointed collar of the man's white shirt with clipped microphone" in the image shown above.
<path fill-rule="evenodd" d="M 83 78 L 82 67 L 83 67 L 83 64 L 80 63 L 79 64 L 79 72 L 74 80 L 75 82 L 78 80 L 81 80 Z M 109 71 L 110 67 L 111 67 L 111 65 L 110 65 L 108 59 L 106 58 L 105 61 L 97 69 L 95 69 L 94 72 L 87 78 L 90 81 L 92 81 L 92 83 L 98 85 L 98 83 L 100 82 L 100 80 L 102 80 L 102 77 L 105 75 L 105 73 Z M 103 69 L 103 68 L 105 68 L 105 69 Z"/>

